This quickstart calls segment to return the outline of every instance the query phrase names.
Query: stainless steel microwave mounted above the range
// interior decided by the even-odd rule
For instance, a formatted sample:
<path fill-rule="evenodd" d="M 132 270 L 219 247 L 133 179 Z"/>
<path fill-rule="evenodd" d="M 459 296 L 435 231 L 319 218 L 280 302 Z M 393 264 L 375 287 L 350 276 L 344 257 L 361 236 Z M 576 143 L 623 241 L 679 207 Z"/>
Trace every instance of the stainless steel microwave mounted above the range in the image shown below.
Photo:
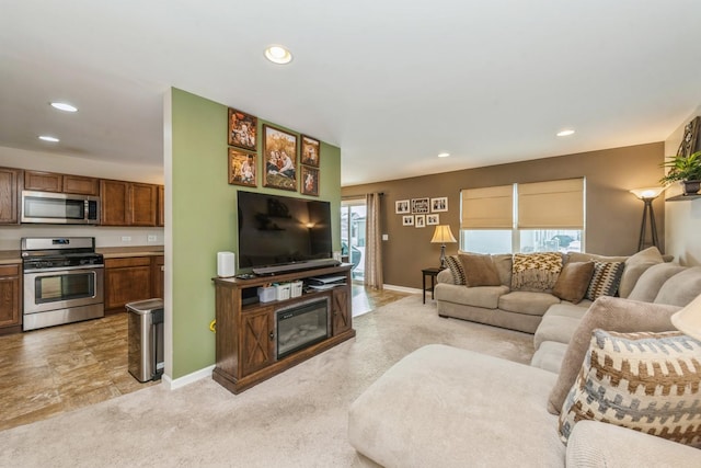
<path fill-rule="evenodd" d="M 100 224 L 100 197 L 22 191 L 22 222 L 54 225 Z"/>

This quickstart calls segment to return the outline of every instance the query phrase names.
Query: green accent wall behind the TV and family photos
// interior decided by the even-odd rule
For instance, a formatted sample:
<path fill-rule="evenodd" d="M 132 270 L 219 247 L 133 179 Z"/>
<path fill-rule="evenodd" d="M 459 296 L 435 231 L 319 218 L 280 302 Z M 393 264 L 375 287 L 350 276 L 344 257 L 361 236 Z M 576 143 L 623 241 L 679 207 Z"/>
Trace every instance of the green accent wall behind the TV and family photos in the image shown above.
<path fill-rule="evenodd" d="M 258 187 L 229 185 L 228 106 L 188 92 L 171 89 L 172 98 L 172 378 L 215 364 L 217 252 L 238 252 L 237 191 L 258 191 L 284 196 L 331 202 L 333 248 L 341 250 L 341 148 L 321 144 L 320 196 L 264 189 L 262 182 L 262 125 L 258 116 Z M 235 106 L 235 103 L 232 103 Z M 313 134 L 312 134 L 313 136 Z M 299 159 L 298 159 L 299 161 Z M 168 181 L 166 181 L 168 183 Z M 299 181 L 298 181 L 299 183 Z"/>

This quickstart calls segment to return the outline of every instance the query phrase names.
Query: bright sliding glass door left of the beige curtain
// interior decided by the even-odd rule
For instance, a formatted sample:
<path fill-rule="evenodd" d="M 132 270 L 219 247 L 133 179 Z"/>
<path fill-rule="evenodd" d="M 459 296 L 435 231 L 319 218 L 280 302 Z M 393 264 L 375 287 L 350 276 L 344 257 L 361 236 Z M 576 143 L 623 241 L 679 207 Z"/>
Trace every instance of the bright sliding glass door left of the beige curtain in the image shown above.
<path fill-rule="evenodd" d="M 366 217 L 365 198 L 341 202 L 341 255 L 353 264 L 350 276 L 358 282 L 365 278 Z"/>

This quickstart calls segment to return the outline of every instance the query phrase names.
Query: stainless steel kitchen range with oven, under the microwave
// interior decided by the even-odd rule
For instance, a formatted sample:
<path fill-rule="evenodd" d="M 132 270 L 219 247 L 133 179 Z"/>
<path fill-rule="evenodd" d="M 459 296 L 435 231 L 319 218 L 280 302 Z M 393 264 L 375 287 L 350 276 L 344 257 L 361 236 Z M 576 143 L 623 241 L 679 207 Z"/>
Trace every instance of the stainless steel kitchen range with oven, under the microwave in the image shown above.
<path fill-rule="evenodd" d="M 104 259 L 95 238 L 22 238 L 23 330 L 104 317 Z"/>

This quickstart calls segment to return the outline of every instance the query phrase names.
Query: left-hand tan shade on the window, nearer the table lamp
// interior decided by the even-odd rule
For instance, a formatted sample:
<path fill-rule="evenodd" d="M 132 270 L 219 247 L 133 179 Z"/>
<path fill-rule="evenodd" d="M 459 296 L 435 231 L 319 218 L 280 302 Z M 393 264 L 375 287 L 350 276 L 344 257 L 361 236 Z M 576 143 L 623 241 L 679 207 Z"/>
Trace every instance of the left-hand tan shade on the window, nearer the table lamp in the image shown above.
<path fill-rule="evenodd" d="M 514 185 L 463 189 L 462 229 L 512 229 Z"/>

